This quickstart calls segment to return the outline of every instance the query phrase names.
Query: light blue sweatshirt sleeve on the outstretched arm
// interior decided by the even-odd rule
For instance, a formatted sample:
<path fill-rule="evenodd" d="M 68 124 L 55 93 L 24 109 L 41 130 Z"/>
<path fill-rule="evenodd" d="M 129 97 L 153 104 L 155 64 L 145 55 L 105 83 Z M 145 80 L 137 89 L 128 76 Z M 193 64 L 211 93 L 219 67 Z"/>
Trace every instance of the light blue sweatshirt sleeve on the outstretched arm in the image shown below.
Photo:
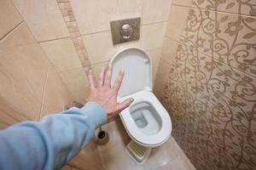
<path fill-rule="evenodd" d="M 89 102 L 41 122 L 21 122 L 0 131 L 0 169 L 61 169 L 107 121 L 100 105 Z"/>

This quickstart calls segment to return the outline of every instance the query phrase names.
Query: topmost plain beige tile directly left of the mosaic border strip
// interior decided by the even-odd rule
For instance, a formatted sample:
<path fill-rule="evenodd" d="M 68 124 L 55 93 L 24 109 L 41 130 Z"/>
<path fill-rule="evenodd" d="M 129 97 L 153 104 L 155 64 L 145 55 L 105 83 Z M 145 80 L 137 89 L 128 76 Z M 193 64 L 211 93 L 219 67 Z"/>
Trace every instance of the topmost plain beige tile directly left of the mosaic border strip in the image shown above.
<path fill-rule="evenodd" d="M 69 37 L 61 10 L 55 0 L 13 2 L 38 41 Z"/>

